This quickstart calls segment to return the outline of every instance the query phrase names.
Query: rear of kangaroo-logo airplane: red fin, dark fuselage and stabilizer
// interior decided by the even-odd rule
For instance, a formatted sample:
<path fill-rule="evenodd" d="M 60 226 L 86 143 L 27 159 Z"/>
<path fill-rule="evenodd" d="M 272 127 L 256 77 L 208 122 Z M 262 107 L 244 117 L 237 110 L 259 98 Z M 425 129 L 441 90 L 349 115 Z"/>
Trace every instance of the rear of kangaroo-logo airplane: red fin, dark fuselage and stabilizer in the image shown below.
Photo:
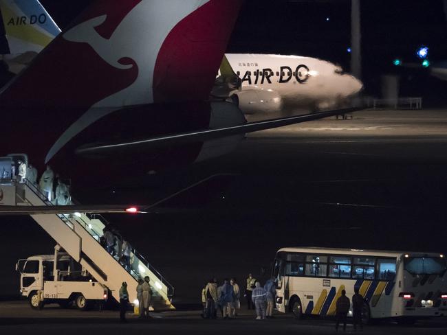
<path fill-rule="evenodd" d="M 3 88 L 0 155 L 24 152 L 40 171 L 110 185 L 220 156 L 247 132 L 349 112 L 247 122 L 235 104 L 209 99 L 241 3 L 93 1 Z"/>

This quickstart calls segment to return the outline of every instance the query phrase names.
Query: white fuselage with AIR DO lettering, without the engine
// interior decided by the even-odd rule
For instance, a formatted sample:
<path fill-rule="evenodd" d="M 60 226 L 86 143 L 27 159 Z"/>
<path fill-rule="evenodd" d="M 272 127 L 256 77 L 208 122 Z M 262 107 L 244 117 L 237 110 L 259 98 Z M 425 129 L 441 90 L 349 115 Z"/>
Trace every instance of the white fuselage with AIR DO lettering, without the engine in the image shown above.
<path fill-rule="evenodd" d="M 226 58 L 242 91 L 274 91 L 285 104 L 331 107 L 362 89 L 360 80 L 317 58 L 263 54 L 226 54 Z"/>

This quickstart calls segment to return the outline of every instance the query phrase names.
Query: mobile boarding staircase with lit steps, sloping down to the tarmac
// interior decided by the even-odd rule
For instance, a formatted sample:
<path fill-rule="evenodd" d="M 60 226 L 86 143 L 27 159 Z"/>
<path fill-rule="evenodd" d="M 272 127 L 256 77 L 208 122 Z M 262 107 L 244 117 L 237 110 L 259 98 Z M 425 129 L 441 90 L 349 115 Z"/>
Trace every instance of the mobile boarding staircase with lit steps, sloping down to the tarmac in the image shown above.
<path fill-rule="evenodd" d="M 52 206 L 40 190 L 25 181 L 25 183 L 12 182 L 11 185 L 2 185 L 11 194 L 16 194 L 17 206 Z M 126 270 L 118 257 L 112 256 L 100 244 L 102 231 L 108 222 L 98 214 L 87 213 L 70 214 L 39 214 L 31 217 L 50 236 L 83 266 L 100 284 L 106 286 L 116 301 L 120 301 L 119 290 L 122 282 L 127 282 L 129 301 L 136 303 L 136 286 L 138 279 L 149 276 L 153 291 L 151 310 L 173 310 L 172 297 L 174 288 L 160 275 L 147 261 L 133 250 L 131 254 L 131 269 Z"/>

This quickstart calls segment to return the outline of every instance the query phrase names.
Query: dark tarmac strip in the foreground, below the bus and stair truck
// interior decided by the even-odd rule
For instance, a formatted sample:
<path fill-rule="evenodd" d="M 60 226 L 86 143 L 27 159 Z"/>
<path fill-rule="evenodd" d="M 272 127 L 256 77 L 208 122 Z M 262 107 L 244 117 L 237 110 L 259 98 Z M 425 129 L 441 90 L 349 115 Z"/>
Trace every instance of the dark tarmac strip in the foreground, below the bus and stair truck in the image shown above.
<path fill-rule="evenodd" d="M 54 307 L 52 307 L 54 306 Z M 337 334 L 330 319 L 296 321 L 290 315 L 275 314 L 274 319 L 257 321 L 254 312 L 241 310 L 235 319 L 204 320 L 200 311 L 152 313 L 151 319 L 140 320 L 131 312 L 128 323 L 118 320 L 116 311 L 61 310 L 48 305 L 31 310 L 26 302 L 0 303 L 1 334 Z M 447 318 L 419 321 L 415 325 L 399 325 L 381 321 L 355 332 L 347 324 L 347 333 L 358 334 L 445 334 Z M 343 334 L 342 328 L 338 334 Z"/>

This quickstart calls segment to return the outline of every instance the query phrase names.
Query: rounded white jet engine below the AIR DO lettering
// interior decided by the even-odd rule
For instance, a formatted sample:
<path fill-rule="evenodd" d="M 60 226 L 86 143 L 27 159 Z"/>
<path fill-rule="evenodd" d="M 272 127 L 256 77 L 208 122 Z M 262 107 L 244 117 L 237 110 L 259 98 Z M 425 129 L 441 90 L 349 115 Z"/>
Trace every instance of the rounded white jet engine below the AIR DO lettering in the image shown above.
<path fill-rule="evenodd" d="M 247 115 L 281 111 L 281 97 L 278 92 L 272 90 L 240 91 L 234 93 L 230 99 L 241 109 L 242 113 Z"/>

